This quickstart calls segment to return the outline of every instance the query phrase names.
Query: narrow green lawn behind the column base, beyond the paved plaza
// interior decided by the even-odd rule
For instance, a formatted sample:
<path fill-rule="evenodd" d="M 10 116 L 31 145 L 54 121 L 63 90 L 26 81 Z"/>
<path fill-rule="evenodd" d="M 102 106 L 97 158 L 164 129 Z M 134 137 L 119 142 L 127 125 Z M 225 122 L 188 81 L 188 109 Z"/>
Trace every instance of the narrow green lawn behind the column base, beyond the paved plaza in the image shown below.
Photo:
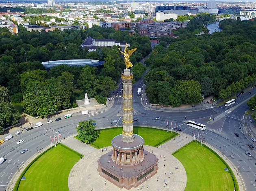
<path fill-rule="evenodd" d="M 113 127 L 108 129 L 100 130 L 99 137 L 91 143 L 91 146 L 95 147 L 96 149 L 100 149 L 105 146 L 111 146 L 111 140 L 113 137 L 122 134 L 123 127 Z M 150 127 L 133 127 L 133 132 L 142 136 L 145 140 L 145 144 L 150 146 L 159 146 L 164 142 L 174 138 L 178 135 L 173 132 L 163 130 L 163 129 L 155 129 Z M 79 140 L 79 138 L 76 136 Z"/>

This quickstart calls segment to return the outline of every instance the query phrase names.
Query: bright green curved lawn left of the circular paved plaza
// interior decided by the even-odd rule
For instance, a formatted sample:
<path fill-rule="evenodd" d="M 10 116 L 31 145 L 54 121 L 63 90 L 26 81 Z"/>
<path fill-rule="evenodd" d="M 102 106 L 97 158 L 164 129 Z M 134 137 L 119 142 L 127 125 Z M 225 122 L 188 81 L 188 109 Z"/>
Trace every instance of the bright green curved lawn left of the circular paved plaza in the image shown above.
<path fill-rule="evenodd" d="M 47 151 L 28 168 L 18 191 L 69 191 L 69 172 L 79 159 L 78 153 L 61 145 Z"/>

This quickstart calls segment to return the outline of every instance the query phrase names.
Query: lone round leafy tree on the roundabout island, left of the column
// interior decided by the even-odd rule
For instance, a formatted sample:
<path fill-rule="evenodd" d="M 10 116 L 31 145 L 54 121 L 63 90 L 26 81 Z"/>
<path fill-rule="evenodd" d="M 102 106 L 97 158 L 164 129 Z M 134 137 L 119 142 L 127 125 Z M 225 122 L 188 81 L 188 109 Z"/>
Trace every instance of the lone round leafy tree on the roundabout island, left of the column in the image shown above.
<path fill-rule="evenodd" d="M 81 142 L 89 144 L 98 138 L 100 132 L 95 130 L 94 123 L 96 123 L 96 121 L 93 120 L 81 121 L 78 123 L 76 130 Z"/>

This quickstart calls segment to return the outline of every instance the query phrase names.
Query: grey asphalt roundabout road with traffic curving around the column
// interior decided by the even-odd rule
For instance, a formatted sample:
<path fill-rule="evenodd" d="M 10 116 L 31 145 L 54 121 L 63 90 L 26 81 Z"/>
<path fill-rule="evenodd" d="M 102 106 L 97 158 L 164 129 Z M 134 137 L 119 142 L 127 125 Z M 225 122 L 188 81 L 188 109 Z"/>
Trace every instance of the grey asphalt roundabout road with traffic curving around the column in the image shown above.
<path fill-rule="evenodd" d="M 250 90 L 252 91 L 251 95 L 245 92 L 239 96 L 236 99 L 236 103 L 228 109 L 225 106 L 215 106 L 193 112 L 164 112 L 164 110 L 151 110 L 142 105 L 141 97 L 137 96 L 138 87 L 143 89 L 142 80 L 137 81 L 133 86 L 134 118 L 139 119 L 138 122 L 134 122 L 134 126 L 167 128 L 167 120 L 169 120 L 169 128 L 171 128 L 171 121 L 173 121 L 173 127 L 177 123 L 182 132 L 193 136 L 195 129 L 186 125 L 185 122 L 187 120 L 193 119 L 194 121 L 206 124 L 205 131 L 195 130 L 196 136 L 198 136 L 198 131 L 199 138 L 202 137 L 203 133 L 203 141 L 214 146 L 232 161 L 243 178 L 246 191 L 256 190 L 256 165 L 254 164 L 256 163 L 256 153 L 248 147 L 248 144 L 252 144 L 256 148 L 256 142 L 252 142 L 249 139 L 250 136 L 243 127 L 243 114 L 248 109 L 246 100 L 255 95 L 256 88 Z M 120 89 L 121 85 L 117 91 L 120 91 Z M 114 95 L 116 95 L 116 92 Z M 122 125 L 121 114 L 122 98 L 118 97 L 115 98 L 114 105 L 110 110 L 99 115 L 89 117 L 89 115 L 74 113 L 69 119 L 64 119 L 63 116 L 61 121 L 56 122 L 54 121 L 55 118 L 52 118 L 53 122 L 50 124 L 47 124 L 46 120 L 42 120 L 43 125 L 41 127 L 34 128 L 28 132 L 23 130 L 22 134 L 14 136 L 11 140 L 0 145 L 0 157 L 6 159 L 0 165 L 0 191 L 4 191 L 7 188 L 7 183 L 17 172 L 19 166 L 36 152 L 40 152 L 43 147 L 50 144 L 50 136 L 53 137 L 57 130 L 61 130 L 61 139 L 63 139 L 65 136 L 76 133 L 75 128 L 79 121 L 93 119 L 97 122 L 99 129 L 102 127 L 120 126 Z M 156 117 L 160 117 L 160 119 L 156 120 Z M 209 121 L 209 117 L 212 117 L 214 121 Z M 117 123 L 111 123 L 113 120 L 117 120 Z M 234 135 L 235 132 L 239 133 L 239 137 Z M 16 142 L 21 139 L 24 139 L 25 142 L 17 144 Z M 22 149 L 28 149 L 28 151 L 21 154 L 20 151 Z M 252 154 L 252 157 L 248 157 L 245 154 L 247 151 Z"/>

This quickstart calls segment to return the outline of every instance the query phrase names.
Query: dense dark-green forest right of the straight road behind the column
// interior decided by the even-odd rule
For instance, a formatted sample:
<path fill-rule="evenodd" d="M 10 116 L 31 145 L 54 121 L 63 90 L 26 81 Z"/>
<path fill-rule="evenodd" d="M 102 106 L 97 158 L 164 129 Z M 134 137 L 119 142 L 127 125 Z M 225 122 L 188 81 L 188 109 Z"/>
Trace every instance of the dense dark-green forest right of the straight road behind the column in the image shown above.
<path fill-rule="evenodd" d="M 202 94 L 225 99 L 256 83 L 256 21 L 226 19 L 219 26 L 213 34 L 195 36 L 187 28 L 179 38 L 161 38 L 145 60 L 150 103 L 196 104 Z"/>

